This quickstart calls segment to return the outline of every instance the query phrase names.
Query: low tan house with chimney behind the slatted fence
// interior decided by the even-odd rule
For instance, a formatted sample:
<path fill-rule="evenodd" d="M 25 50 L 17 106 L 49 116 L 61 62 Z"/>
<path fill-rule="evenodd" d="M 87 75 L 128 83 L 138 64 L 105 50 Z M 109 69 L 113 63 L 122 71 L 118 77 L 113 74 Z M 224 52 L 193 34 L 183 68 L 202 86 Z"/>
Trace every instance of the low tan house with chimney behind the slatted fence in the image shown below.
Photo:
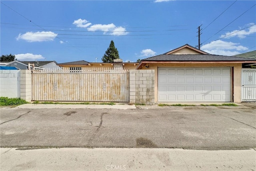
<path fill-rule="evenodd" d="M 114 60 L 113 63 L 99 63 L 99 62 L 87 62 L 87 61 L 74 61 L 57 64 L 64 70 L 70 70 L 72 72 L 79 72 L 85 68 L 111 68 L 111 69 L 125 69 L 135 70 L 138 66 L 138 62 L 123 62 L 121 59 Z"/>

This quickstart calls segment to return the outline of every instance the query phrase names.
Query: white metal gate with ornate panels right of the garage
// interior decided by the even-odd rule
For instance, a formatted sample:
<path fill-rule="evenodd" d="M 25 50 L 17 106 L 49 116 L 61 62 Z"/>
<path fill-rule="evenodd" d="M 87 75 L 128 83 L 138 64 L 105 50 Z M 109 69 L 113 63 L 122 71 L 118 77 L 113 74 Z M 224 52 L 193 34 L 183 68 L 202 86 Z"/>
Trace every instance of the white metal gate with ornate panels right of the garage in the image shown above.
<path fill-rule="evenodd" d="M 242 69 L 242 101 L 256 101 L 256 69 Z"/>

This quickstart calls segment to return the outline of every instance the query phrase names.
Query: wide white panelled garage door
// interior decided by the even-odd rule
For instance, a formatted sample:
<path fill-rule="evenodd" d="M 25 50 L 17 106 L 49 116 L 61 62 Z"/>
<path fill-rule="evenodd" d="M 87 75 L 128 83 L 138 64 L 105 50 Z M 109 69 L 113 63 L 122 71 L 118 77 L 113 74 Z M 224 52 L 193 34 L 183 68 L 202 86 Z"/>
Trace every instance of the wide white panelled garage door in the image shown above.
<path fill-rule="evenodd" d="M 231 68 L 158 68 L 158 101 L 231 101 Z"/>

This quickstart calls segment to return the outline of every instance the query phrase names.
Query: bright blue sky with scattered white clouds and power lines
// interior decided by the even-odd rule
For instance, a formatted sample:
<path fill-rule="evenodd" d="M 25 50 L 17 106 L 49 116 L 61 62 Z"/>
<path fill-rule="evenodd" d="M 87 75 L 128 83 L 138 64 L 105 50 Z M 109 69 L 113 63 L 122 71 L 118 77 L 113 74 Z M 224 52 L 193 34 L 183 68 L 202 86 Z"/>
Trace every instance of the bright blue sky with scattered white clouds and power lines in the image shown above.
<path fill-rule="evenodd" d="M 0 54 L 17 60 L 102 62 L 114 40 L 136 62 L 185 44 L 232 56 L 256 50 L 256 2 L 185 0 L 1 1 Z"/>

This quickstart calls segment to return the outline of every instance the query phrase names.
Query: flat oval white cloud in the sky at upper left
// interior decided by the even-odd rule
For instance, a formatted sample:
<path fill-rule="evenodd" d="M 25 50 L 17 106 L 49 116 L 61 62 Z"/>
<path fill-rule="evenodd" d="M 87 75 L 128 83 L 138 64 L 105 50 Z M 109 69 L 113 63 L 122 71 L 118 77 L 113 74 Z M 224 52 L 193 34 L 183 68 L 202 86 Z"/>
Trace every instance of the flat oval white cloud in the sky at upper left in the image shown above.
<path fill-rule="evenodd" d="M 26 40 L 28 42 L 44 42 L 53 41 L 58 34 L 54 32 L 26 32 L 25 34 L 19 34 L 16 40 Z"/>

